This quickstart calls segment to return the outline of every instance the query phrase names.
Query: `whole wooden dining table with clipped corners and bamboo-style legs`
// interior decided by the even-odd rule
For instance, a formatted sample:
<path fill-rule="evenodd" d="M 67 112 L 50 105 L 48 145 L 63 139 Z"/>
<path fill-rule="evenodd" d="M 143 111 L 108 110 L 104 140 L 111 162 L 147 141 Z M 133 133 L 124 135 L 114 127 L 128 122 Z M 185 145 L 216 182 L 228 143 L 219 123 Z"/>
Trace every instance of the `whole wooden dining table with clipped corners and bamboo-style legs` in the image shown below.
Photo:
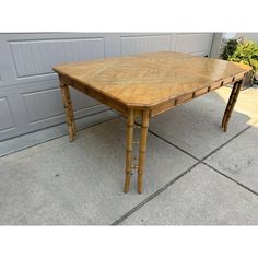
<path fill-rule="evenodd" d="M 132 169 L 138 172 L 138 192 L 142 192 L 142 175 L 151 117 L 174 108 L 223 85 L 234 83 L 222 128 L 227 124 L 250 67 L 218 59 L 179 52 L 153 52 L 61 64 L 59 74 L 70 141 L 75 125 L 69 86 L 114 108 L 127 118 L 125 192 Z M 134 119 L 141 118 L 140 142 L 133 141 Z M 138 164 L 132 164 L 132 148 L 139 144 Z"/>

